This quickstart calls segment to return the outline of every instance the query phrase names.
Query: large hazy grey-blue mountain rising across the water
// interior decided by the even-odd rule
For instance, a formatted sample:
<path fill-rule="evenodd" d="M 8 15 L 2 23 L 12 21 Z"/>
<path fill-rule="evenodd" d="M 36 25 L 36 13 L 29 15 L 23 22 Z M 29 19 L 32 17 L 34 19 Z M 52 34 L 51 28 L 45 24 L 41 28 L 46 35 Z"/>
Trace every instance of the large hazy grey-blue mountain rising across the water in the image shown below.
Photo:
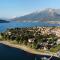
<path fill-rule="evenodd" d="M 60 9 L 47 8 L 25 16 L 14 18 L 16 21 L 60 21 Z"/>

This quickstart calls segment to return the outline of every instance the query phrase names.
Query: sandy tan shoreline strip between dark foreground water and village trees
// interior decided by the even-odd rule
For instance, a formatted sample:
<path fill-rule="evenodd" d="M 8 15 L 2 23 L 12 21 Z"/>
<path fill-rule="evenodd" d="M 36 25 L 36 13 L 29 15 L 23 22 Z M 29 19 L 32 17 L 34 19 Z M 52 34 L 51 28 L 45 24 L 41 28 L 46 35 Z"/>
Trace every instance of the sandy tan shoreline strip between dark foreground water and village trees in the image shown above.
<path fill-rule="evenodd" d="M 25 45 L 13 44 L 13 43 L 11 43 L 9 41 L 0 41 L 0 43 L 5 44 L 5 45 L 8 45 L 10 47 L 15 47 L 15 48 L 24 50 L 24 51 L 29 52 L 29 53 L 32 53 L 32 54 L 48 55 L 48 56 L 58 57 L 56 53 L 52 53 L 52 52 L 49 52 L 49 51 L 47 51 L 47 52 L 40 52 L 40 51 L 37 51 L 35 49 L 29 48 L 29 47 L 27 47 Z"/>

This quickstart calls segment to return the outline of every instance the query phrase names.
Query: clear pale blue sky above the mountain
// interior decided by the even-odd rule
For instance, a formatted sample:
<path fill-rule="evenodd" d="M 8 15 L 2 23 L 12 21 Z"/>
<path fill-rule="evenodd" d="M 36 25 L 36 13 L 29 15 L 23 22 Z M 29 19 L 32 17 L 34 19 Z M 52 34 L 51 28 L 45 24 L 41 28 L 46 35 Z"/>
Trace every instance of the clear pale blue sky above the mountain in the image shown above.
<path fill-rule="evenodd" d="M 0 0 L 0 18 L 22 16 L 45 8 L 60 9 L 60 0 Z"/>

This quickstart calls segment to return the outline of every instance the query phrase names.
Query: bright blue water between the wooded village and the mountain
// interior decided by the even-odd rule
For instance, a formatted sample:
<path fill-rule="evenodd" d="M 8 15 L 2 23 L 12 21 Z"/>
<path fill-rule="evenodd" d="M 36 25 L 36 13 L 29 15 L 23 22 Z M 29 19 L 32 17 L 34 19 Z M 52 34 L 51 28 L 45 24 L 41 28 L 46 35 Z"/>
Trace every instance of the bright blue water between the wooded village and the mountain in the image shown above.
<path fill-rule="evenodd" d="M 59 24 L 49 24 L 47 22 L 17 22 L 0 23 L 0 32 L 6 31 L 8 28 L 16 27 L 34 27 L 34 26 L 60 26 Z"/>

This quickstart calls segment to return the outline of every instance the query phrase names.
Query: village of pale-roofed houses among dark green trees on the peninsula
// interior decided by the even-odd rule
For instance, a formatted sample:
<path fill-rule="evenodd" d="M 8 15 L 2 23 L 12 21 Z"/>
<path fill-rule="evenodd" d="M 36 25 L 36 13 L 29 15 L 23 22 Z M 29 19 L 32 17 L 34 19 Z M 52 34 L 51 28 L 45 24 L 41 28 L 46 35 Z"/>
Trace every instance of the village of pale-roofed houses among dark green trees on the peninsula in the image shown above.
<path fill-rule="evenodd" d="M 60 52 L 60 27 L 29 27 L 8 29 L 0 33 L 0 40 L 16 40 L 30 48 Z"/>

